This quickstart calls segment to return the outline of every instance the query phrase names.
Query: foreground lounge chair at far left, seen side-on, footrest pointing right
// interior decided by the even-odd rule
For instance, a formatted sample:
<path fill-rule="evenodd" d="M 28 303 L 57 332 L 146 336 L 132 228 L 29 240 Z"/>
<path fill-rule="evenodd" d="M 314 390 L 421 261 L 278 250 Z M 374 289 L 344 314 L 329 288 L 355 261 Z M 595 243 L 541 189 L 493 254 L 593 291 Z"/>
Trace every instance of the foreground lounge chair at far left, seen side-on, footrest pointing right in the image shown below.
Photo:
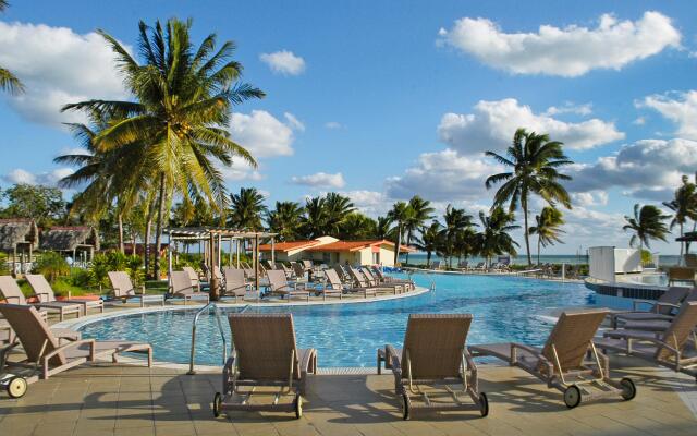
<path fill-rule="evenodd" d="M 101 356 L 110 355 L 117 363 L 117 355 L 125 352 L 147 354 L 148 366 L 152 366 L 152 347 L 149 343 L 80 339 L 61 346 L 33 306 L 0 304 L 0 313 L 16 332 L 26 354 L 26 360 L 19 364 L 35 365 L 41 378 Z"/>

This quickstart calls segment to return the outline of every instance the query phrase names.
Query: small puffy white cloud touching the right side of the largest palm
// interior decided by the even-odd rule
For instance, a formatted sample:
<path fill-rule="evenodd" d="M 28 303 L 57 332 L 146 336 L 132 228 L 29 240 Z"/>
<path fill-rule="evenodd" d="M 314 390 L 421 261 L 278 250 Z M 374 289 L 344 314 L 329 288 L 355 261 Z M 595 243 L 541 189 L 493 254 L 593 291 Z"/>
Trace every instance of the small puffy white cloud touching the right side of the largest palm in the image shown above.
<path fill-rule="evenodd" d="M 293 154 L 293 129 L 265 110 L 253 110 L 250 114 L 233 113 L 230 134 L 255 159 Z"/>

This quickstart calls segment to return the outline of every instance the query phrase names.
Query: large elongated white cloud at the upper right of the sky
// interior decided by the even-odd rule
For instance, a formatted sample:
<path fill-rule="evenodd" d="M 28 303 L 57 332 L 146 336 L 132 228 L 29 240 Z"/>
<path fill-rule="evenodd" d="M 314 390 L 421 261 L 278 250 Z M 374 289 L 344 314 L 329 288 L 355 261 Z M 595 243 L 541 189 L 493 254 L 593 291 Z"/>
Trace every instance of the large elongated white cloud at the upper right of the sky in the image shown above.
<path fill-rule="evenodd" d="M 653 11 L 633 22 L 610 14 L 596 28 L 541 25 L 537 33 L 508 34 L 487 19 L 463 17 L 450 31 L 441 28 L 447 44 L 479 61 L 515 74 L 574 77 L 592 69 L 620 70 L 626 64 L 680 47 L 681 34 L 671 19 Z"/>

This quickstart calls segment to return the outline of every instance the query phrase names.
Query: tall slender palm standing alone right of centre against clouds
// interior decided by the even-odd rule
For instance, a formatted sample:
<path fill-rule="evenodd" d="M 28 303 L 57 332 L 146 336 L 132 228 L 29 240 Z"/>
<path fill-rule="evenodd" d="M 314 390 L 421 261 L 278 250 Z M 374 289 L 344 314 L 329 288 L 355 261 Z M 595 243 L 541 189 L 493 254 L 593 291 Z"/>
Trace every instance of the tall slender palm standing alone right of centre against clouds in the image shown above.
<path fill-rule="evenodd" d="M 506 150 L 508 157 L 494 152 L 486 153 L 487 156 L 513 169 L 512 172 L 490 175 L 486 186 L 490 189 L 493 184 L 503 182 L 493 197 L 492 209 L 508 202 L 509 211 L 513 213 L 517 209 L 518 203 L 521 204 L 528 265 L 533 265 L 527 222 L 530 194 L 539 195 L 550 206 L 559 202 L 571 209 L 571 197 L 564 186 L 559 183 L 560 180 L 571 180 L 571 177 L 560 173 L 558 168 L 571 165 L 573 161 L 564 155 L 562 146 L 563 144 L 558 141 L 549 141 L 547 134 L 538 135 L 535 132 L 528 133 L 525 129 L 518 129 L 513 135 L 513 145 Z"/>

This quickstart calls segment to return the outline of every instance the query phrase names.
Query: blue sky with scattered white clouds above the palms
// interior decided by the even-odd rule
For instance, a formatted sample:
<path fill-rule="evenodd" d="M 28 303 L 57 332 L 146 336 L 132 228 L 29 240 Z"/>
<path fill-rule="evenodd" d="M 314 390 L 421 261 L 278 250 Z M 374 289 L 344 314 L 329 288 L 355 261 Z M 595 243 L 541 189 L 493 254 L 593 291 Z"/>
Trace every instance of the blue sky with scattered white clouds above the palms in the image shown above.
<path fill-rule="evenodd" d="M 258 168 L 223 172 L 269 206 L 338 191 L 375 217 L 418 194 L 476 215 L 502 170 L 484 152 L 526 128 L 575 162 L 565 243 L 546 250 L 572 254 L 626 247 L 634 204 L 660 205 L 697 170 L 690 1 L 15 0 L 0 15 L 0 65 L 26 93 L 0 94 L 0 187 L 73 171 L 52 162 L 77 147 L 62 123 L 83 121 L 62 105 L 130 98 L 96 29 L 132 48 L 138 21 L 172 16 L 193 19 L 196 43 L 233 40 L 242 80 L 267 94 L 230 126 Z"/>

